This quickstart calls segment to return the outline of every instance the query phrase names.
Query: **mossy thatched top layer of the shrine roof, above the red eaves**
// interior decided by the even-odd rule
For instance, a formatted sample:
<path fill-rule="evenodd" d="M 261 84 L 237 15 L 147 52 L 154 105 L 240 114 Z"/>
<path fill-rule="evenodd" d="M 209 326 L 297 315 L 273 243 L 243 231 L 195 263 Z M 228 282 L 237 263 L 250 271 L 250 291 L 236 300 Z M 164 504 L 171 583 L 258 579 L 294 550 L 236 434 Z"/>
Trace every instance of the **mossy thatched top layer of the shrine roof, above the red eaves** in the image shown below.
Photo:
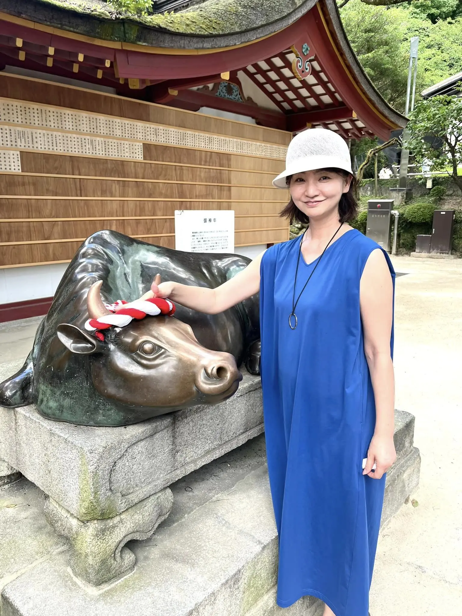
<path fill-rule="evenodd" d="M 176 12 L 137 16 L 117 12 L 103 0 L 0 0 L 0 10 L 107 41 L 211 49 L 281 30 L 316 1 L 205 0 Z M 173 43 L 168 33 L 182 36 Z"/>

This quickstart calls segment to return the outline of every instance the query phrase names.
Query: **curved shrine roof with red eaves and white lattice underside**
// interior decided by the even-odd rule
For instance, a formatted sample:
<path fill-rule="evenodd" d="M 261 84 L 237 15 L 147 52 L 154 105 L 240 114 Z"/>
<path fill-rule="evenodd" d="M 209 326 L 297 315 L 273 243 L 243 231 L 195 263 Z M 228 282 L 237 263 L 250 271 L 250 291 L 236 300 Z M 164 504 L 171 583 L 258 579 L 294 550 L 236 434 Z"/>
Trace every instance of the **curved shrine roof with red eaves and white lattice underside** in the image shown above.
<path fill-rule="evenodd" d="M 387 139 L 407 123 L 363 71 L 335 0 L 191 1 L 134 17 L 102 0 L 0 0 L 0 68 L 192 111 L 219 108 L 292 132 L 323 126 L 345 139 Z"/>

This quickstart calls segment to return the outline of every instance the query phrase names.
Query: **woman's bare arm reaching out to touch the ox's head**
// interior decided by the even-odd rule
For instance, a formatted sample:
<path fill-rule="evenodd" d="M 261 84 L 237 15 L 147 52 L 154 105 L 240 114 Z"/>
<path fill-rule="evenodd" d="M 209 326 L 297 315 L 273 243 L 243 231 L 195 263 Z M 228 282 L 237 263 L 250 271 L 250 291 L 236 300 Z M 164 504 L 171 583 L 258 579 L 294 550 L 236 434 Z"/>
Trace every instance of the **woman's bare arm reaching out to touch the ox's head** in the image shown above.
<path fill-rule="evenodd" d="M 169 298 L 182 306 L 198 310 L 198 312 L 205 312 L 206 314 L 223 312 L 243 301 L 243 299 L 258 293 L 260 289 L 260 264 L 264 253 L 265 251 L 253 259 L 239 274 L 215 289 L 182 285 L 177 282 L 161 282 L 160 285 L 152 283 L 151 291 L 145 293 L 140 299 Z"/>

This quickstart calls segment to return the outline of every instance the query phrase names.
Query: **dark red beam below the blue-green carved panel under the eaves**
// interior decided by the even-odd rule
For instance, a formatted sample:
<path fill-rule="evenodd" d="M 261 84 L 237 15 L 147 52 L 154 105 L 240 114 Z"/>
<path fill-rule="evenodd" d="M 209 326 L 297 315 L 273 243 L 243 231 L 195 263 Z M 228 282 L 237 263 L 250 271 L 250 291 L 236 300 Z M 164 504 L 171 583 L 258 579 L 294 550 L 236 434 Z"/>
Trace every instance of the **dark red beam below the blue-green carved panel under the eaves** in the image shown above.
<path fill-rule="evenodd" d="M 177 96 L 172 97 L 172 100 L 168 102 L 168 105 L 190 111 L 197 111 L 200 107 L 211 107 L 212 109 L 249 116 L 262 126 L 277 128 L 282 131 L 286 130 L 286 116 L 283 113 L 264 109 L 263 107 L 258 107 L 258 105 L 251 105 L 246 102 L 240 103 L 235 100 L 224 99 L 220 96 L 198 92 L 197 90 L 179 91 Z"/>

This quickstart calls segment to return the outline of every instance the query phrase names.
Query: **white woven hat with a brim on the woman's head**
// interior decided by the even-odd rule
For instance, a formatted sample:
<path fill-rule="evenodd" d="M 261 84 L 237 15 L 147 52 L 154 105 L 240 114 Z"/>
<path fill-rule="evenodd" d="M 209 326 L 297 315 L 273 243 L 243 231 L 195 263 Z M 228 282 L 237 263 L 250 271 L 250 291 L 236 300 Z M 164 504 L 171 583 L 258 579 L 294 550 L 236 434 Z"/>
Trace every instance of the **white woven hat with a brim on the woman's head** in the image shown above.
<path fill-rule="evenodd" d="M 346 141 L 326 128 L 299 132 L 287 148 L 286 168 L 273 180 L 276 188 L 287 188 L 286 177 L 303 171 L 334 167 L 353 173 Z"/>

